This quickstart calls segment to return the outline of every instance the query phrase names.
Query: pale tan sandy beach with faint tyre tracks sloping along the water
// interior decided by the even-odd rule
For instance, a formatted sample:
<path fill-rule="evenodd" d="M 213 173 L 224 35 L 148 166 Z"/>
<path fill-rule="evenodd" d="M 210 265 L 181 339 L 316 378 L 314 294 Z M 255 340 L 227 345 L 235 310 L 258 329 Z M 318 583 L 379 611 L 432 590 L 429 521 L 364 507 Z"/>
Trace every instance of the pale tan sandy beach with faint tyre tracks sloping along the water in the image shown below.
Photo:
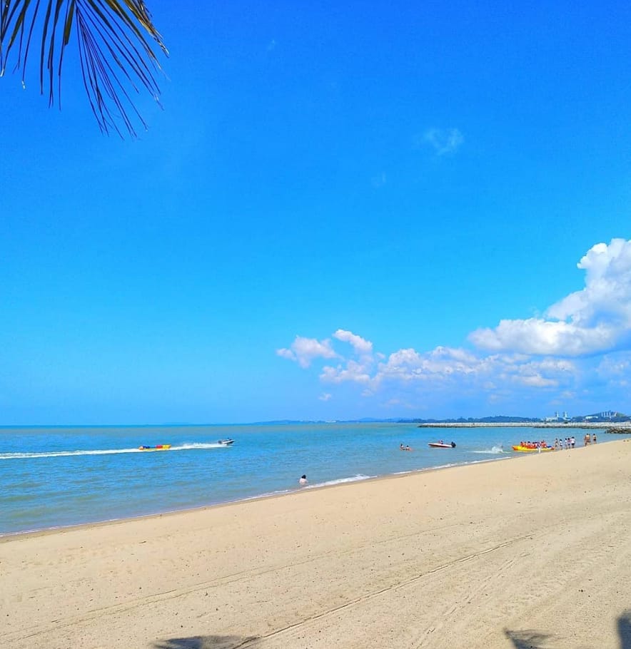
<path fill-rule="evenodd" d="M 0 539 L 12 649 L 630 649 L 630 609 L 625 440 Z"/>

